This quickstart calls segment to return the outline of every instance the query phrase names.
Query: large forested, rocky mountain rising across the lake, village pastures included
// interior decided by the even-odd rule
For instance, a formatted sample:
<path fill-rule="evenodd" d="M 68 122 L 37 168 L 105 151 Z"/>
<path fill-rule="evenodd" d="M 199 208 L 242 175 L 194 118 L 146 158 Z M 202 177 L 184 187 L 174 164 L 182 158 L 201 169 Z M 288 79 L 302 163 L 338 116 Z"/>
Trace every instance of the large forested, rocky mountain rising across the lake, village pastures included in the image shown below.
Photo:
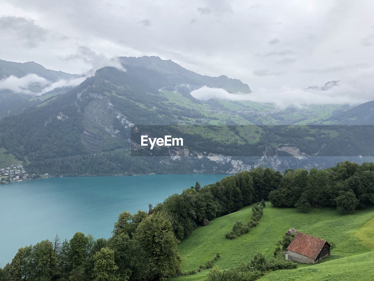
<path fill-rule="evenodd" d="M 104 67 L 66 93 L 40 100 L 21 114 L 1 118 L 1 153 L 27 163 L 30 173 L 52 175 L 230 173 L 259 165 L 276 169 L 327 167 L 347 159 L 310 160 L 306 156 L 324 155 L 324 151 L 329 153 L 326 155 L 345 155 L 334 153 L 354 139 L 352 132 L 343 142 L 335 139 L 333 148 L 324 148 L 325 141 L 344 134 L 344 130 L 330 135 L 321 129 L 283 132 L 279 126 L 260 126 L 308 124 L 318 114 L 332 112 L 336 105 L 282 111 L 274 105 L 249 101 L 204 102 L 190 92 L 203 85 L 218 87 L 217 81 L 227 91 L 250 90 L 239 80 L 202 76 L 157 57 L 120 60 L 126 71 Z M 179 133 L 189 134 L 191 146 L 176 149 L 172 157 L 158 151 L 132 151 L 131 127 L 140 125 L 176 125 L 180 130 L 183 126 L 186 130 Z M 156 129 L 148 126 L 144 130 L 154 133 Z M 299 135 L 302 138 L 295 138 Z M 366 146 L 350 151 L 358 148 Z"/>

